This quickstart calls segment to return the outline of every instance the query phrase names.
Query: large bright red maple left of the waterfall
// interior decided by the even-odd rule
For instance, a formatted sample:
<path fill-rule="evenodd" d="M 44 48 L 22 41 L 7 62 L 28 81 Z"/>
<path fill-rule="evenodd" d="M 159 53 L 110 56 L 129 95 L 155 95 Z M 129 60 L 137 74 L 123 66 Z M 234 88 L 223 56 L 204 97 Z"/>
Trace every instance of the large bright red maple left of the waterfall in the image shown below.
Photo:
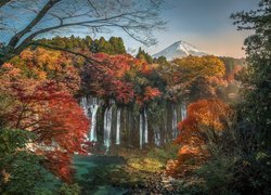
<path fill-rule="evenodd" d="M 70 181 L 70 157 L 74 152 L 85 152 L 81 144 L 89 129 L 77 101 L 55 81 L 26 79 L 11 64 L 4 64 L 1 70 L 0 92 L 13 101 L 1 115 L 3 126 L 33 132 L 35 138 L 24 150 L 43 156 L 49 170 Z"/>

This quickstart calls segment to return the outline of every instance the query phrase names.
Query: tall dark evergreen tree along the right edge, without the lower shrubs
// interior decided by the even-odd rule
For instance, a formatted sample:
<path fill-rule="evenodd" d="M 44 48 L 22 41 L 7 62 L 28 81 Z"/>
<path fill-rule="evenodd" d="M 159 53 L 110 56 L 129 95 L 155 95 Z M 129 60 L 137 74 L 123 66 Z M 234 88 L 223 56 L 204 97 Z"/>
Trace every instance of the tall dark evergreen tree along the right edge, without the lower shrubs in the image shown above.
<path fill-rule="evenodd" d="M 257 147 L 270 147 L 271 142 L 271 8 L 261 0 L 259 9 L 232 15 L 238 29 L 254 29 L 245 40 L 248 66 L 240 76 L 244 102 L 241 114 L 256 134 Z"/>

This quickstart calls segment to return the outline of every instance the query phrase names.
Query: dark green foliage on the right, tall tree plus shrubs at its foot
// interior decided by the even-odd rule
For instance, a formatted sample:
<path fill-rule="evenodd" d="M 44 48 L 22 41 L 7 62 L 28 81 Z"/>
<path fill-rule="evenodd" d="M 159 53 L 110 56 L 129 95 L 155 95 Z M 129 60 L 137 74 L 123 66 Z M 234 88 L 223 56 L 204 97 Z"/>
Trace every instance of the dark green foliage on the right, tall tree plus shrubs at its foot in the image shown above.
<path fill-rule="evenodd" d="M 245 40 L 247 67 L 238 75 L 242 101 L 236 105 L 236 120 L 218 143 L 209 143 L 211 157 L 197 170 L 204 179 L 198 186 L 208 194 L 271 193 L 271 34 L 270 1 L 261 0 L 257 11 L 232 15 L 238 29 L 254 29 Z M 232 70 L 233 61 L 221 58 Z"/>

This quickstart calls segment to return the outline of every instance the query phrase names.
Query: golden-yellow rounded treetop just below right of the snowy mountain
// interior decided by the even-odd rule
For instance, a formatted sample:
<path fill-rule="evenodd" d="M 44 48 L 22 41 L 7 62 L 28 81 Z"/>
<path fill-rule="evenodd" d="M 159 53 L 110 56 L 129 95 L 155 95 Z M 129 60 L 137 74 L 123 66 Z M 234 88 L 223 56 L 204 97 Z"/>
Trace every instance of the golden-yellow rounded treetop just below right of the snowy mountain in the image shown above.
<path fill-rule="evenodd" d="M 159 67 L 160 76 L 167 82 L 167 96 L 170 100 L 218 96 L 218 87 L 227 84 L 223 80 L 224 65 L 216 56 L 188 56 L 176 58 L 171 64 Z"/>

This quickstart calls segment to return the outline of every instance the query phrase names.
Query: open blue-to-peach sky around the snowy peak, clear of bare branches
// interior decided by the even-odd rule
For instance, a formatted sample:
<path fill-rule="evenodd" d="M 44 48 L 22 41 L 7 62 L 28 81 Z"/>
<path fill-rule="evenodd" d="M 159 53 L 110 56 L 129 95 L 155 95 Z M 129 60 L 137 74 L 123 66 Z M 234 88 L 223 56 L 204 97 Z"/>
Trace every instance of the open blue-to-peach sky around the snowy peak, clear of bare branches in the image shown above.
<path fill-rule="evenodd" d="M 257 5 L 258 0 L 165 0 L 160 16 L 167 24 L 165 30 L 154 31 L 157 44 L 147 48 L 121 30 L 99 36 L 107 39 L 111 36 L 122 37 L 129 51 L 137 51 L 142 47 L 150 54 L 183 40 L 209 54 L 244 57 L 243 42 L 253 31 L 237 31 L 230 15 L 237 11 L 255 10 Z M 14 20 L 11 22 L 15 23 Z M 80 30 L 75 35 L 86 36 Z M 9 36 L 0 32 L 0 41 L 7 40 Z"/>

